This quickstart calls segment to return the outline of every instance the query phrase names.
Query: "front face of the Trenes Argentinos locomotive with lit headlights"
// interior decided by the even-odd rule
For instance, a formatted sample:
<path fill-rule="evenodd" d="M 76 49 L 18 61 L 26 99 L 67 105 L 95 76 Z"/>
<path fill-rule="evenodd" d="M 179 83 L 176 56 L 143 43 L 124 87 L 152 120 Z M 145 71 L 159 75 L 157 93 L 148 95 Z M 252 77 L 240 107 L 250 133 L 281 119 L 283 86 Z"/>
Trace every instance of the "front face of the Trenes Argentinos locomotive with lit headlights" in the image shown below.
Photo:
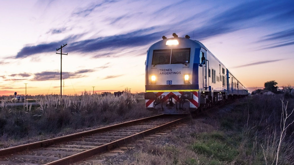
<path fill-rule="evenodd" d="M 165 114 L 185 114 L 198 103 L 198 67 L 201 46 L 185 38 L 166 38 L 147 51 L 146 109 Z"/>

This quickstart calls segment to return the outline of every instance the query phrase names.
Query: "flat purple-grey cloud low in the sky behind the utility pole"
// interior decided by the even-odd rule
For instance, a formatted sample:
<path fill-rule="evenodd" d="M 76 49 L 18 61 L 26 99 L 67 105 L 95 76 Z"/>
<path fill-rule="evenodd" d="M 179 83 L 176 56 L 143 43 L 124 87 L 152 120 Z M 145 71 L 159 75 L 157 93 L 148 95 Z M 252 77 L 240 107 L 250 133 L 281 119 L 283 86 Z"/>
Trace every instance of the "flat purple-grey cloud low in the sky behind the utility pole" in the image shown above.
<path fill-rule="evenodd" d="M 86 77 L 84 73 L 91 73 L 94 72 L 93 69 L 84 69 L 84 70 L 78 70 L 76 72 L 63 72 L 62 77 L 63 78 L 81 78 Z M 60 80 L 60 72 L 54 72 L 54 71 L 44 71 L 41 73 L 35 73 L 33 81 L 45 81 L 45 80 Z"/>

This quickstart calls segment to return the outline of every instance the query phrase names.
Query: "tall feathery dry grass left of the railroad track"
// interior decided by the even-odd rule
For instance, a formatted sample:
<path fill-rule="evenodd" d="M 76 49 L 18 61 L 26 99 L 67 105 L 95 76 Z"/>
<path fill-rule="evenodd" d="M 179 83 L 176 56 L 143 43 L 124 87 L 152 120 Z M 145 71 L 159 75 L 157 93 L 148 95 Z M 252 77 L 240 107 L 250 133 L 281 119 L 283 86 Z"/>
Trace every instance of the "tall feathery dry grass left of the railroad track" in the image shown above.
<path fill-rule="evenodd" d="M 90 95 L 87 92 L 81 96 L 64 96 L 62 99 L 47 95 L 38 97 L 37 103 L 38 106 L 35 107 L 27 102 L 24 106 L 2 106 L 1 141 L 56 134 L 64 130 L 89 128 L 152 115 L 145 110 L 144 100 L 137 100 L 129 92 L 124 92 L 119 97 L 101 97 L 100 94 Z"/>

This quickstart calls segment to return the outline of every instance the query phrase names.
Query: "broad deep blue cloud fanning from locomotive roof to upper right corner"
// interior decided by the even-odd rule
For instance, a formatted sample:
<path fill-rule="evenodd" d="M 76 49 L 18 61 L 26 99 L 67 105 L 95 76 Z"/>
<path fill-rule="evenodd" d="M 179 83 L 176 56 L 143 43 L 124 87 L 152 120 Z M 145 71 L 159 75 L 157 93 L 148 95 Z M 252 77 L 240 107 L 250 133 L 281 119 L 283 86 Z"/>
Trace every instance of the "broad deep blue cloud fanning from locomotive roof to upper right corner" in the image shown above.
<path fill-rule="evenodd" d="M 265 23 L 273 24 L 280 21 L 280 17 L 273 16 L 293 14 L 291 12 L 293 9 L 287 7 L 288 5 L 288 3 L 267 1 L 246 2 L 207 19 L 205 24 L 194 30 L 194 36 L 201 40 Z"/>

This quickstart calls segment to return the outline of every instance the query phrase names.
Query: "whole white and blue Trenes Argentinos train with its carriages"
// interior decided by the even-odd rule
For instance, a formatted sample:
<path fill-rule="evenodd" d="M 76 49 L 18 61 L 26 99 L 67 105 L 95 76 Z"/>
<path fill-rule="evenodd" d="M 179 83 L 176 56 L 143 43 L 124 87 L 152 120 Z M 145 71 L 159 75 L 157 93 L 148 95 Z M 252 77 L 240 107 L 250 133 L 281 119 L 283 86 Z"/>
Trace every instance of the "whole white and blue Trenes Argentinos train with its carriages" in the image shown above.
<path fill-rule="evenodd" d="M 146 109 L 187 114 L 249 95 L 246 87 L 201 42 L 162 37 L 147 50 Z"/>

